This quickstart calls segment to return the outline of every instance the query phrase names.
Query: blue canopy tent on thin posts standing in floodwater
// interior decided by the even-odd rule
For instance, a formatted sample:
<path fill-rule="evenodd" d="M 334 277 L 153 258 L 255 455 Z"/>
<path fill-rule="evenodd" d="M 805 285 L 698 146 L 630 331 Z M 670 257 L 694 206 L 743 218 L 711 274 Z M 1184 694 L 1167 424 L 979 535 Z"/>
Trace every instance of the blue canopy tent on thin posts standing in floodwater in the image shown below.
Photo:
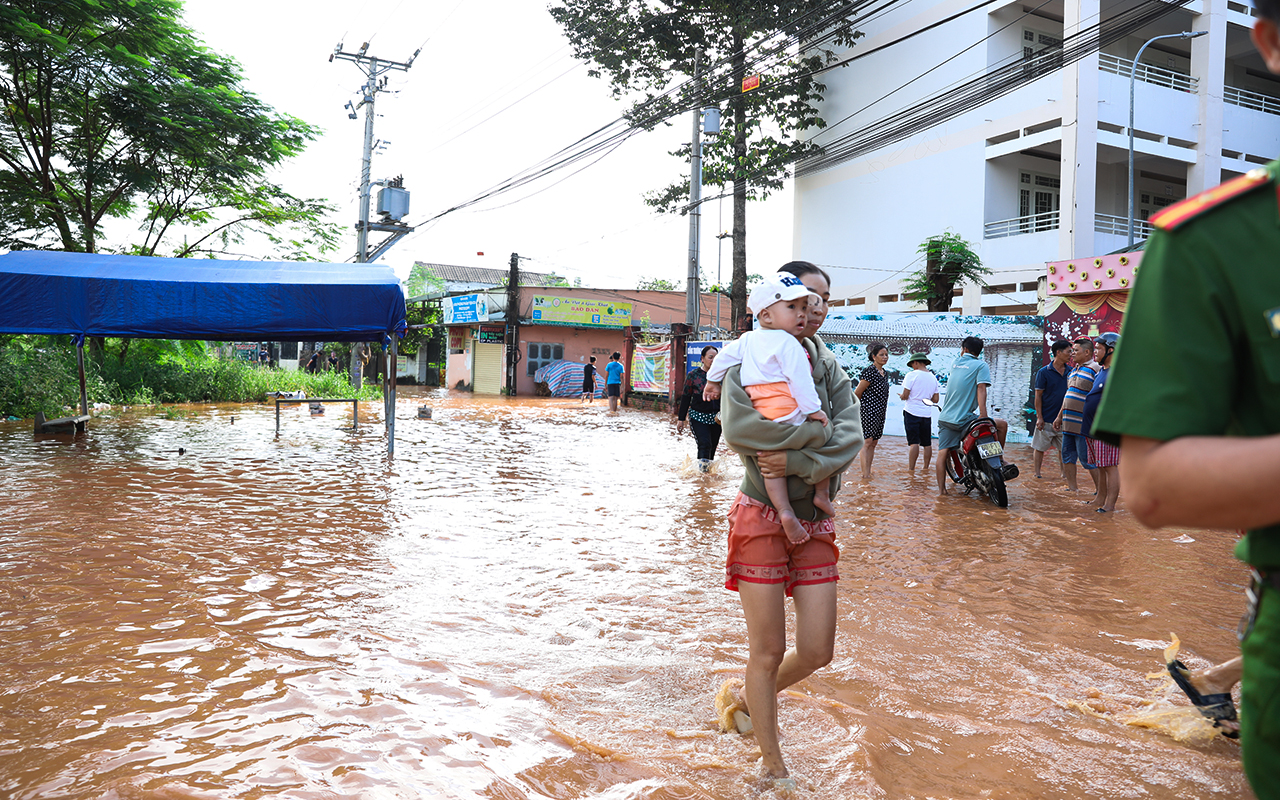
<path fill-rule="evenodd" d="M 0 256 L 0 332 L 140 339 L 387 342 L 396 362 L 404 292 L 390 268 L 54 251 Z M 83 376 L 83 369 L 82 369 Z M 387 413 L 394 452 L 394 392 Z M 87 413 L 81 392 L 81 413 Z"/>

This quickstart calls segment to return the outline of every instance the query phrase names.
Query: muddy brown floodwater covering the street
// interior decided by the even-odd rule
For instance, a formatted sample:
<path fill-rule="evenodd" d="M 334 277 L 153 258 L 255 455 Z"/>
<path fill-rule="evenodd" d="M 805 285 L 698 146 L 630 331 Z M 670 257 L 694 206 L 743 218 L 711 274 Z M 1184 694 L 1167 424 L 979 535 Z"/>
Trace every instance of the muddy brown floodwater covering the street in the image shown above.
<path fill-rule="evenodd" d="M 402 394 L 392 465 L 339 406 L 0 424 L 0 796 L 759 796 L 712 708 L 741 466 L 604 411 Z M 1249 796 L 1148 677 L 1170 631 L 1236 653 L 1234 536 L 1097 518 L 1011 449 L 1007 511 L 893 438 L 846 485 L 836 660 L 780 707 L 799 796 Z"/>

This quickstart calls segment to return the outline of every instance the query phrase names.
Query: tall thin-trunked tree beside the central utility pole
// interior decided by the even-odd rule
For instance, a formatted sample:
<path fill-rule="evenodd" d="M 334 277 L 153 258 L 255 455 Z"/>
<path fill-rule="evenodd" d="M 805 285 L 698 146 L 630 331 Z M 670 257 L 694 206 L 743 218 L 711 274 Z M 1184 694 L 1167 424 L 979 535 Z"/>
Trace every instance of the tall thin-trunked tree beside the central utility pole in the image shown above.
<path fill-rule="evenodd" d="M 849 0 L 559 0 L 550 8 L 575 54 L 596 65 L 593 74 L 608 78 L 614 97 L 639 97 L 628 111 L 632 124 L 653 129 L 682 110 L 727 106 L 721 134 L 703 148 L 703 183 L 732 184 L 735 328 L 746 314 L 746 202 L 781 188 L 788 165 L 817 152 L 797 137 L 826 127 L 814 108 L 824 87 L 812 73 L 835 59 L 829 47 L 859 36 L 849 23 L 854 8 Z M 781 49 L 786 37 L 803 40 L 804 50 Z M 694 74 L 696 47 L 704 52 L 701 95 L 668 95 L 675 76 Z M 749 74 L 762 77 L 760 87 L 742 92 Z M 672 155 L 687 164 L 690 146 Z M 646 202 L 684 210 L 687 173 Z"/>

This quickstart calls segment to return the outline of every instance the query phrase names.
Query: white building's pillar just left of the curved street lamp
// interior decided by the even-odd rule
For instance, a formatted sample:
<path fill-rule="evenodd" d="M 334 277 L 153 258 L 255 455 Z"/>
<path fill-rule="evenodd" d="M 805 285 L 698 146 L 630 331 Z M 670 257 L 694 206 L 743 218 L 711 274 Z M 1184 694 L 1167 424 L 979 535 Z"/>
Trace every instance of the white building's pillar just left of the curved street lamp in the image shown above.
<path fill-rule="evenodd" d="M 1222 0 L 1225 3 L 1225 0 Z M 1066 0 L 1062 37 L 1098 19 L 1100 0 Z M 1062 70 L 1062 165 L 1057 257 L 1093 253 L 1093 218 L 1098 193 L 1098 55 Z"/>

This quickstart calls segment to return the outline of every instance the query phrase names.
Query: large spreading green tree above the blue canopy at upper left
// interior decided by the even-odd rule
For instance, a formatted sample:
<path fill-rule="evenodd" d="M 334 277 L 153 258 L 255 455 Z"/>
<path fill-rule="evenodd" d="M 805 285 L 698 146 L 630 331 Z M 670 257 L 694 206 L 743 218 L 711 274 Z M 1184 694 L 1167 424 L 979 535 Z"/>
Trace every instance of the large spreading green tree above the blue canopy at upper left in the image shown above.
<path fill-rule="evenodd" d="M 195 256 L 261 237 L 285 260 L 337 246 L 330 206 L 268 179 L 316 129 L 248 92 L 180 14 L 180 0 L 0 4 L 0 246 Z M 137 232 L 104 241 L 113 219 Z"/>

